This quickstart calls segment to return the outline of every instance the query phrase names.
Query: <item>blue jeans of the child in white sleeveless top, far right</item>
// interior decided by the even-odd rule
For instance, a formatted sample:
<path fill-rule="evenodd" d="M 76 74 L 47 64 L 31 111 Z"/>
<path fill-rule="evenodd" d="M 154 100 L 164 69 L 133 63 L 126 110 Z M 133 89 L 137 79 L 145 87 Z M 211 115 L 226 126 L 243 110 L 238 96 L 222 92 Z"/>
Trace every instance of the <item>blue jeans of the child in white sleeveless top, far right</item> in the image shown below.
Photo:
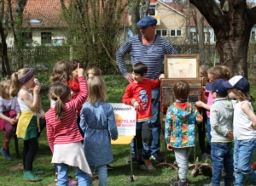
<path fill-rule="evenodd" d="M 256 173 L 253 172 L 253 169 L 250 167 L 256 150 L 256 138 L 247 140 L 237 140 L 237 138 L 235 138 L 234 141 L 235 186 L 243 185 L 244 176 L 247 176 L 253 185 L 256 185 Z"/>

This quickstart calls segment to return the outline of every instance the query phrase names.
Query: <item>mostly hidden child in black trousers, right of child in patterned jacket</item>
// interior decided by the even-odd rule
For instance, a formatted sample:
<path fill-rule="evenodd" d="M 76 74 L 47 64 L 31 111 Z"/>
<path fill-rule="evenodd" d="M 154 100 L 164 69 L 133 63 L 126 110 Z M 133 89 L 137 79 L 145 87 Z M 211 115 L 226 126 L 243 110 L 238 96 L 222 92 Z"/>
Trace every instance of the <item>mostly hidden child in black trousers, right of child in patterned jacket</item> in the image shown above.
<path fill-rule="evenodd" d="M 208 74 L 207 74 L 207 65 L 201 65 L 199 68 L 200 71 L 200 77 L 201 77 L 201 82 L 203 86 L 203 93 L 202 93 L 202 102 L 207 104 L 207 99 L 209 92 L 206 91 L 206 84 L 208 82 Z M 199 146 L 201 149 L 201 159 L 203 161 L 207 161 L 207 156 L 211 153 L 211 146 L 209 143 L 205 143 L 205 138 L 206 138 L 206 123 L 207 123 L 207 110 L 204 108 L 198 108 L 198 110 L 201 112 L 201 115 L 203 116 L 203 121 L 197 125 L 197 130 L 198 130 L 198 141 L 199 141 Z"/>

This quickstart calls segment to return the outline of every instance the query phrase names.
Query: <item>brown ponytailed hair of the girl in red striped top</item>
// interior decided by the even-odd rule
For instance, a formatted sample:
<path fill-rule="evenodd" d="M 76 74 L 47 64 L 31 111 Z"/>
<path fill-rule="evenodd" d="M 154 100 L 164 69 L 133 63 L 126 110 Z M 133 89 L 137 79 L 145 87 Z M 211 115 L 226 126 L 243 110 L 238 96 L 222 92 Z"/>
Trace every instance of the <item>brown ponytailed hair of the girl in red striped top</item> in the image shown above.
<path fill-rule="evenodd" d="M 66 111 L 65 101 L 70 92 L 70 87 L 64 82 L 56 82 L 49 87 L 49 99 L 55 100 L 55 121 L 64 116 Z"/>

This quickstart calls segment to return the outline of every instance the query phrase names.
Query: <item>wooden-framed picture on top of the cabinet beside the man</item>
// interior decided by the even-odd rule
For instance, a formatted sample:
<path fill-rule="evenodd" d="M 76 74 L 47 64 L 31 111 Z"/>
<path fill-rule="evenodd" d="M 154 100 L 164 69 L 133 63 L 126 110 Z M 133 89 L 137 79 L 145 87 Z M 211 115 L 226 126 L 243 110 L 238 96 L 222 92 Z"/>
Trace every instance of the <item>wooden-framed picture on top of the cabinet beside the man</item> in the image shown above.
<path fill-rule="evenodd" d="M 165 76 L 170 79 L 200 79 L 198 54 L 166 54 Z"/>

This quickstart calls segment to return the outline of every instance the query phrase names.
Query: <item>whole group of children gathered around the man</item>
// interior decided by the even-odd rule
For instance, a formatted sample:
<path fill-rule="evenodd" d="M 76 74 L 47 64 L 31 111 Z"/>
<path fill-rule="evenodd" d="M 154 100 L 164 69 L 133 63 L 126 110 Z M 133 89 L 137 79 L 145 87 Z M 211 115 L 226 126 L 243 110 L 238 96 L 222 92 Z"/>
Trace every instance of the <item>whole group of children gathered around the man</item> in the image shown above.
<path fill-rule="evenodd" d="M 154 172 L 156 169 L 149 160 L 151 90 L 160 86 L 164 75 L 158 80 L 144 79 L 147 70 L 143 63 L 132 67 L 133 81 L 126 87 L 122 102 L 137 110 L 135 149 L 139 168 Z M 202 121 L 207 121 L 208 134 L 206 148 L 202 124 L 199 129 L 202 131 L 199 132 L 202 159 L 211 157 L 213 161 L 212 183 L 207 186 L 220 185 L 223 169 L 225 186 L 230 186 L 234 180 L 236 185 L 243 185 L 244 176 L 256 185 L 256 174 L 250 167 L 256 149 L 256 116 L 251 105 L 249 82 L 243 76 L 230 79 L 230 70 L 225 66 L 213 66 L 209 70 L 201 66 L 200 71 L 203 100 L 195 105 L 189 103 L 188 82 L 177 81 L 173 87 L 175 101 L 166 113 L 167 149 L 174 149 L 179 167 L 178 178 L 172 179 L 171 185 L 188 185 L 189 154 L 195 146 L 196 124 Z M 96 67 L 87 70 L 87 81 L 83 73 L 79 61 L 59 61 L 50 76 L 50 109 L 45 113 L 45 121 L 49 148 L 53 153 L 51 162 L 55 165 L 59 186 L 77 184 L 68 176 L 68 166 L 73 166 L 79 185 L 92 185 L 91 176 L 95 169 L 100 185 L 108 185 L 107 165 L 113 161 L 111 139 L 118 138 L 113 108 L 106 102 L 107 87 L 101 70 Z M 38 175 L 44 173 L 32 168 L 40 133 L 38 114 L 41 113 L 41 119 L 44 119 L 40 86 L 34 82 L 34 76 L 33 69 L 25 68 L 15 72 L 10 81 L 0 83 L 0 130 L 5 130 L 1 153 L 6 160 L 11 160 L 9 142 L 16 125 L 17 137 L 24 141 L 24 178 L 28 181 L 40 181 L 42 178 Z M 204 110 L 200 113 L 196 106 Z"/>

